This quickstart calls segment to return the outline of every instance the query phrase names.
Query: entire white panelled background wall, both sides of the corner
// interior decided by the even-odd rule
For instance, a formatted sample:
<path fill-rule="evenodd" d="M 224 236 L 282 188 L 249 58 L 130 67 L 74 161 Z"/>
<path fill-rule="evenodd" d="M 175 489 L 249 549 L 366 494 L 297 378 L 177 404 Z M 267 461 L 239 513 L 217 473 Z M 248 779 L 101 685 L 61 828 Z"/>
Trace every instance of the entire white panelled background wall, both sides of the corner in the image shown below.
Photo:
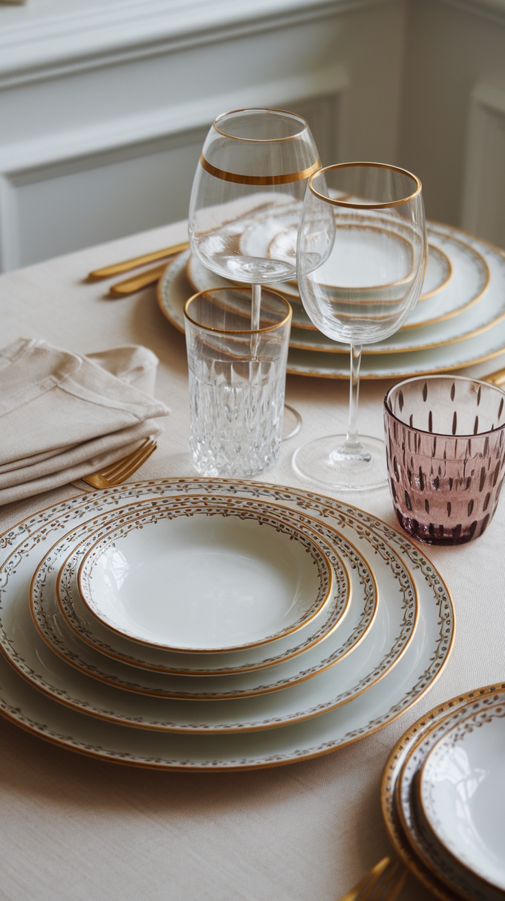
<path fill-rule="evenodd" d="M 323 163 L 421 177 L 505 245 L 505 0 L 0 6 L 0 268 L 183 218 L 215 115 L 304 115 Z"/>

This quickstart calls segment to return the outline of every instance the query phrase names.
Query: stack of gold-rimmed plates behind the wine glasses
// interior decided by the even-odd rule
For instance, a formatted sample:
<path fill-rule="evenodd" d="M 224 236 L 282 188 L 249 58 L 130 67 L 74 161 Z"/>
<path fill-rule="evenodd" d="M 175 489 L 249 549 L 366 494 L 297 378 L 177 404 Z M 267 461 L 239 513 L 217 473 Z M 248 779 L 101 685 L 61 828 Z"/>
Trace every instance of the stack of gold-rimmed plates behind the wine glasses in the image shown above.
<path fill-rule="evenodd" d="M 368 232 L 373 240 L 374 232 Z M 280 241 L 282 232 L 272 241 Z M 266 248 L 259 248 L 262 254 Z M 373 247 L 371 247 L 373 251 Z M 189 251 L 168 266 L 158 303 L 184 331 L 185 300 L 195 291 L 231 284 Z M 305 313 L 295 282 L 272 285 L 293 306 L 287 371 L 348 378 L 348 347 L 322 335 Z M 418 304 L 399 332 L 365 345 L 361 378 L 408 378 L 460 369 L 505 350 L 505 253 L 452 226 L 428 223 L 428 265 Z"/>

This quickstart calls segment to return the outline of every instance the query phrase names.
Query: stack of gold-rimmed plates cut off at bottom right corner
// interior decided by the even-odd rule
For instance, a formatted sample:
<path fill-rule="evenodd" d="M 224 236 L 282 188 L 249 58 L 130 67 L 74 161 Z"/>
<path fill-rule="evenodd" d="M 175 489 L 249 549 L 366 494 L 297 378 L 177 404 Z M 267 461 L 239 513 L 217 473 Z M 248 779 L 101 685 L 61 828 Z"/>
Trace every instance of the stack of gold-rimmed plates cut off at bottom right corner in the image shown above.
<path fill-rule="evenodd" d="M 420 719 L 383 774 L 383 816 L 403 860 L 450 901 L 505 898 L 505 685 Z"/>

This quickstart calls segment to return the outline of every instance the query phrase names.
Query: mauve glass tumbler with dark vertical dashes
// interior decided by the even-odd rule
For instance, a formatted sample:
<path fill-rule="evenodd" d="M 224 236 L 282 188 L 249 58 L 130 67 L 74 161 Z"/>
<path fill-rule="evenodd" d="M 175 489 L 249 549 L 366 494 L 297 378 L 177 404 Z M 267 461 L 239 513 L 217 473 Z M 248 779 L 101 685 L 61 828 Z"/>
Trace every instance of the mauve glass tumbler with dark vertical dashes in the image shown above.
<path fill-rule="evenodd" d="M 403 529 L 430 544 L 482 535 L 505 474 L 505 392 L 459 376 L 409 378 L 384 398 L 384 429 Z"/>

